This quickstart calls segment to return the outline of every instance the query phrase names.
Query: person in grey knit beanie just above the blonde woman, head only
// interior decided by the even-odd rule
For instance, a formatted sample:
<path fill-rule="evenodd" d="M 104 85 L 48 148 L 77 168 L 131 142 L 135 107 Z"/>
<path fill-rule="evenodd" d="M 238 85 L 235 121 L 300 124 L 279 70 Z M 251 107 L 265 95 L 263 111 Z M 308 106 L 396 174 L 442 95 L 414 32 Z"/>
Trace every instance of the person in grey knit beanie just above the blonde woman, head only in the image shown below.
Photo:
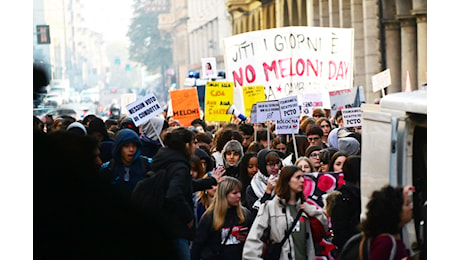
<path fill-rule="evenodd" d="M 239 164 L 243 158 L 243 146 L 237 140 L 228 141 L 222 149 L 222 159 L 225 166 L 225 175 L 238 178 L 240 174 Z"/>

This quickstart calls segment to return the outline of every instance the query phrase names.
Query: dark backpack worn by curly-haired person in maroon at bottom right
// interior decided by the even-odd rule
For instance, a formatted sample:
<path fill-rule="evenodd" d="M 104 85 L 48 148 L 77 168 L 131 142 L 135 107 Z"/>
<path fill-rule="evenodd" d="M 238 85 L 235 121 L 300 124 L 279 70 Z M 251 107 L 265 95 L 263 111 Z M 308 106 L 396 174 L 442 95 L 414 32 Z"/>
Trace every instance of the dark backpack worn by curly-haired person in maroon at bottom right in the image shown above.
<path fill-rule="evenodd" d="M 396 255 L 396 240 L 390 234 L 380 234 L 388 235 L 393 242 L 393 246 L 391 248 L 390 253 L 390 260 L 394 259 Z M 369 260 L 369 253 L 370 253 L 370 240 L 367 238 L 364 233 L 359 233 L 352 236 L 348 241 L 345 243 L 343 248 L 340 250 L 339 256 L 337 259 L 339 260 Z"/>

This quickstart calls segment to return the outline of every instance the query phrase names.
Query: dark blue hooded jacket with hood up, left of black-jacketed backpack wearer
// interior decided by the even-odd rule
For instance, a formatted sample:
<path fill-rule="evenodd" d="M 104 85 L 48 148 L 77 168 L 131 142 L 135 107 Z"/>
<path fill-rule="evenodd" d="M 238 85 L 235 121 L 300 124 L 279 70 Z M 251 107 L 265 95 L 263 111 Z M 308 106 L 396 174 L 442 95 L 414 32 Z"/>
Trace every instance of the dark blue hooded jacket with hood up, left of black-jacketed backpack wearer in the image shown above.
<path fill-rule="evenodd" d="M 121 160 L 121 148 L 132 142 L 137 144 L 137 151 L 131 165 L 127 166 Z M 123 196 L 129 197 L 137 182 L 143 180 L 146 173 L 151 170 L 151 163 L 151 158 L 141 156 L 141 141 L 137 133 L 126 128 L 117 133 L 113 144 L 112 160 L 102 164 L 100 172 L 104 179 L 123 193 Z"/>

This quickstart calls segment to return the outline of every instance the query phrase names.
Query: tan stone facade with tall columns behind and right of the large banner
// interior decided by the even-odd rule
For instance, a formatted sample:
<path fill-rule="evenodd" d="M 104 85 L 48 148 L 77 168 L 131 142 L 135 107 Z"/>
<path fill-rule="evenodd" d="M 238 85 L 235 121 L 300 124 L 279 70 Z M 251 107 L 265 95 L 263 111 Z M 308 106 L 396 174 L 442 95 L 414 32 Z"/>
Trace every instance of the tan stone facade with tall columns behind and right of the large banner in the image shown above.
<path fill-rule="evenodd" d="M 354 86 L 363 86 L 366 100 L 372 76 L 390 69 L 388 93 L 427 82 L 426 0 L 228 0 L 232 33 L 285 26 L 354 28 Z"/>

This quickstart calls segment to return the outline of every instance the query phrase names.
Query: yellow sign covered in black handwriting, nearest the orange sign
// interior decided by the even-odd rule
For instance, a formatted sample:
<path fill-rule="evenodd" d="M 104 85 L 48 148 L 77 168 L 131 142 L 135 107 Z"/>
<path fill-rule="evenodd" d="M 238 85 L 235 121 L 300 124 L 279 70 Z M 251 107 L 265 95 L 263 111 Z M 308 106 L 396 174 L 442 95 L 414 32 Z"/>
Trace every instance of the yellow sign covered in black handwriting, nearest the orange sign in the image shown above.
<path fill-rule="evenodd" d="M 208 81 L 206 83 L 205 120 L 209 122 L 230 122 L 233 115 L 227 114 L 233 104 L 233 83 Z"/>

